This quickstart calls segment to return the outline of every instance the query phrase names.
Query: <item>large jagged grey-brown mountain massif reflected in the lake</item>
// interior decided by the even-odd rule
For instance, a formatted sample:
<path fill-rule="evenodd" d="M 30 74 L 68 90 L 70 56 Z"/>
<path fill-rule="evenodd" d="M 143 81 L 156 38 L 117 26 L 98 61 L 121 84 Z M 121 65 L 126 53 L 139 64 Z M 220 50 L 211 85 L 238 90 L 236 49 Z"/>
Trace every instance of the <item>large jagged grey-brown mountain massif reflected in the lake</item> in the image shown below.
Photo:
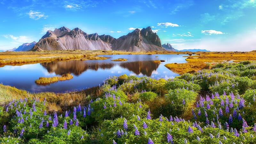
<path fill-rule="evenodd" d="M 56 28 L 39 40 L 31 51 L 41 50 L 117 50 L 117 51 L 165 51 L 161 41 L 150 27 L 135 29 L 126 36 L 87 34 L 79 28 Z"/>

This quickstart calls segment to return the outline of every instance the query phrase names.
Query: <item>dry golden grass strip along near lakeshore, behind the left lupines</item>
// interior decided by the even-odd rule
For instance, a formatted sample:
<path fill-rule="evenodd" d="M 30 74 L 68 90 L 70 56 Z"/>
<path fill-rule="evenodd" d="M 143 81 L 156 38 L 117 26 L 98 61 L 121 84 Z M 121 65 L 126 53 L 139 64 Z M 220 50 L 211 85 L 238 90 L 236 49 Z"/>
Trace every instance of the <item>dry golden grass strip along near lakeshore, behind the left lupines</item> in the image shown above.
<path fill-rule="evenodd" d="M 67 92 L 67 93 L 54 93 L 54 92 L 39 92 L 30 93 L 25 90 L 20 90 L 15 87 L 0 84 L 0 105 L 12 101 L 12 99 L 20 98 L 39 98 L 43 101 L 47 99 L 48 111 L 62 112 L 74 106 L 88 104 L 93 97 L 97 97 L 100 94 L 98 87 L 93 87 L 81 92 Z"/>

